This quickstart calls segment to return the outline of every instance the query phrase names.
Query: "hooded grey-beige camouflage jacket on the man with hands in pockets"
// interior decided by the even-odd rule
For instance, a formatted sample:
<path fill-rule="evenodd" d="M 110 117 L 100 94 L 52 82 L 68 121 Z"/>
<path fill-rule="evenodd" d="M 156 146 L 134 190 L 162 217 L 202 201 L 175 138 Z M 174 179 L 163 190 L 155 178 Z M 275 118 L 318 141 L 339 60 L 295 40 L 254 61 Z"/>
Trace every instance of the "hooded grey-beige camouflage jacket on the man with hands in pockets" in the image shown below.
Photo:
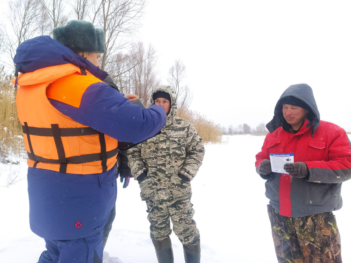
<path fill-rule="evenodd" d="M 129 149 L 127 156 L 134 179 L 147 170 L 143 183 L 148 184 L 150 192 L 157 190 L 161 199 L 167 199 L 162 190 L 168 189 L 168 184 L 176 184 L 179 191 L 190 188 L 190 183 L 186 184 L 178 174 L 192 180 L 201 166 L 205 149 L 194 125 L 176 117 L 174 90 L 169 86 L 160 86 L 153 94 L 159 90 L 171 96 L 171 110 L 167 115 L 166 125 L 160 134 Z M 173 195 L 177 194 L 173 192 Z"/>

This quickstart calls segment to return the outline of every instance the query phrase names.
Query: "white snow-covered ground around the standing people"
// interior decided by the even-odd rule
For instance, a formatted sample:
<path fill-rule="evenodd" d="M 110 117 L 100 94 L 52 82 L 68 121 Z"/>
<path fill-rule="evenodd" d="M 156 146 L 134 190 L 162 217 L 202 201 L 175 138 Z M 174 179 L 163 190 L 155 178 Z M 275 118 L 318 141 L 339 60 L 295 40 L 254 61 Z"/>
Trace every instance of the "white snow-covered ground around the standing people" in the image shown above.
<path fill-rule="evenodd" d="M 277 262 L 266 212 L 264 180 L 255 171 L 255 155 L 264 136 L 224 136 L 222 144 L 206 144 L 199 173 L 192 181 L 194 220 L 201 235 L 202 263 Z M 16 180 L 3 187 L 9 173 Z M 0 165 L 0 262 L 34 263 L 45 242 L 29 229 L 27 165 Z M 157 262 L 149 237 L 146 205 L 138 184 L 118 183 L 117 215 L 105 251 L 110 263 Z M 343 262 L 351 262 L 351 182 L 343 184 L 344 207 L 335 211 L 341 235 Z M 174 262 L 183 263 L 183 249 L 171 235 Z M 107 259 L 107 257 L 106 257 Z"/>

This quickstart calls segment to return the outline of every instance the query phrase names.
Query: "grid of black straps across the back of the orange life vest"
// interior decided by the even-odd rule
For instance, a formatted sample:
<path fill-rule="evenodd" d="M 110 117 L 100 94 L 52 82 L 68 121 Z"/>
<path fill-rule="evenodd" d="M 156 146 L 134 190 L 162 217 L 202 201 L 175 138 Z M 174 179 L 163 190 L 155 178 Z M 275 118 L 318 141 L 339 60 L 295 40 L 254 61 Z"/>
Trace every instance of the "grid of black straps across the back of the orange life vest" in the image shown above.
<path fill-rule="evenodd" d="M 117 154 L 117 148 L 110 151 L 106 151 L 105 135 L 90 127 L 59 128 L 58 124 L 51 124 L 51 128 L 38 128 L 38 127 L 28 127 L 27 122 L 25 122 L 24 124 L 25 125 L 22 125 L 22 130 L 23 130 L 23 133 L 27 135 L 28 146 L 29 146 L 29 150 L 31 151 L 30 153 L 27 151 L 27 154 L 29 159 L 35 161 L 34 166 L 37 166 L 38 162 L 59 163 L 60 173 L 66 173 L 67 164 L 69 163 L 79 164 L 79 163 L 101 161 L 102 172 L 105 172 L 107 171 L 107 159 Z M 93 135 L 93 134 L 99 134 L 99 142 L 100 142 L 100 149 L 101 149 L 100 153 L 66 157 L 61 137 L 84 136 L 84 135 Z M 53 137 L 59 159 L 47 159 L 47 158 L 35 155 L 33 151 L 32 143 L 31 143 L 30 135 Z"/>

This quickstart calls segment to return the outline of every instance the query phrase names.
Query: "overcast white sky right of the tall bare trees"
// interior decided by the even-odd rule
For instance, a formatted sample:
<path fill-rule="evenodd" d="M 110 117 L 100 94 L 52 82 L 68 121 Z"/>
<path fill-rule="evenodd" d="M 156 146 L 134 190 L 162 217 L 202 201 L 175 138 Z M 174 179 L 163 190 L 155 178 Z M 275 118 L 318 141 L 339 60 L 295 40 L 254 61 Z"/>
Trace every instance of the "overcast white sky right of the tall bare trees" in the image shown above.
<path fill-rule="evenodd" d="M 292 84 L 313 89 L 321 119 L 351 131 L 351 2 L 149 0 L 140 40 L 167 84 L 186 66 L 191 109 L 222 126 L 273 117 Z"/>

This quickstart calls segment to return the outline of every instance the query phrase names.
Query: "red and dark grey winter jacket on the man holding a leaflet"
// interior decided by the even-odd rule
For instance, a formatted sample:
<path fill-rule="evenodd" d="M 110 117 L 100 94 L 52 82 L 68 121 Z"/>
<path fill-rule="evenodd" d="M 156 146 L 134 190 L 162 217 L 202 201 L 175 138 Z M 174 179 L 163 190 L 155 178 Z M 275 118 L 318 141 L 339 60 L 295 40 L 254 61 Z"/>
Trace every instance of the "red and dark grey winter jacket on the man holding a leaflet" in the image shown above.
<path fill-rule="evenodd" d="M 351 145 L 344 129 L 320 121 L 311 136 L 306 120 L 294 134 L 282 127 L 268 133 L 256 155 L 256 170 L 269 154 L 293 153 L 294 162 L 304 162 L 308 178 L 272 173 L 260 176 L 266 181 L 266 196 L 280 215 L 303 217 L 342 207 L 341 184 L 351 178 Z M 308 126 L 308 127 L 306 127 Z"/>

